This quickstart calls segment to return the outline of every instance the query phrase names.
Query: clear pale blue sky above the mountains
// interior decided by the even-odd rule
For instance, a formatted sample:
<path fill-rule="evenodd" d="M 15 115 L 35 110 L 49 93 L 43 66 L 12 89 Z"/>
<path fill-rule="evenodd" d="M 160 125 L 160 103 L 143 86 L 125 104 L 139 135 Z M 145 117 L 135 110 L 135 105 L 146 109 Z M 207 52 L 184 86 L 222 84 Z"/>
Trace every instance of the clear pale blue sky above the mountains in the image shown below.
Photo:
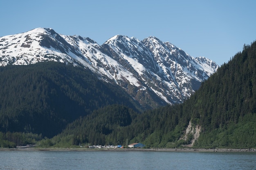
<path fill-rule="evenodd" d="M 256 40 L 256 0 L 1 0 L 0 23 L 0 37 L 38 27 L 100 45 L 155 36 L 222 65 Z"/>

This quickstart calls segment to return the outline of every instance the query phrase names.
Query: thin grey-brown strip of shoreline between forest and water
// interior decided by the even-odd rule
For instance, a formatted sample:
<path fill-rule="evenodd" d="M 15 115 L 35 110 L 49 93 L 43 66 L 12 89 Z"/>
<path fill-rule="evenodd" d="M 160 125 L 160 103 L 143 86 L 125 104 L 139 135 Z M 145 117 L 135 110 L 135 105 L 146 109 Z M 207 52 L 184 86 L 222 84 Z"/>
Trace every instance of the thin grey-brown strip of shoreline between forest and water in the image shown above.
<path fill-rule="evenodd" d="M 155 151 L 155 152 L 256 152 L 256 148 L 0 148 L 0 151 Z"/>

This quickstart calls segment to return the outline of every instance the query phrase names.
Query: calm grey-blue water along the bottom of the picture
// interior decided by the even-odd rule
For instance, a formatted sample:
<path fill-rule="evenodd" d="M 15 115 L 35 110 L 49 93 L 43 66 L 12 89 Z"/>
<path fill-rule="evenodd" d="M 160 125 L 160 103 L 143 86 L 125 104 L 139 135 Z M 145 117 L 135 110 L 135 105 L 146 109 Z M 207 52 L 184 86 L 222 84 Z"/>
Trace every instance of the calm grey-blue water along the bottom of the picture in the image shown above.
<path fill-rule="evenodd" d="M 256 153 L 0 151 L 4 170 L 256 169 Z"/>

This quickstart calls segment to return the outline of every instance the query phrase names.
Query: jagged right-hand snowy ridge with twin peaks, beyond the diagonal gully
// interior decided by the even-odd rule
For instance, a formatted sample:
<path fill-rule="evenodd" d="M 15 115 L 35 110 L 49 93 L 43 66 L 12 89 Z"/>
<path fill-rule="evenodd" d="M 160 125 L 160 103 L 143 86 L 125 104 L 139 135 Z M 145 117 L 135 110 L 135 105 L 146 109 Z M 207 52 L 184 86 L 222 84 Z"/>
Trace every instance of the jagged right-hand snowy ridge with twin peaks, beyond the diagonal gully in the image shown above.
<path fill-rule="evenodd" d="M 139 41 L 134 37 L 117 35 L 105 44 L 111 49 L 112 56 L 119 61 L 124 60 L 124 67 L 128 62 L 139 79 L 170 104 L 182 102 L 189 97 L 200 82 L 218 68 L 211 60 L 205 57 L 195 59 L 173 44 L 164 43 L 156 37 Z"/>

